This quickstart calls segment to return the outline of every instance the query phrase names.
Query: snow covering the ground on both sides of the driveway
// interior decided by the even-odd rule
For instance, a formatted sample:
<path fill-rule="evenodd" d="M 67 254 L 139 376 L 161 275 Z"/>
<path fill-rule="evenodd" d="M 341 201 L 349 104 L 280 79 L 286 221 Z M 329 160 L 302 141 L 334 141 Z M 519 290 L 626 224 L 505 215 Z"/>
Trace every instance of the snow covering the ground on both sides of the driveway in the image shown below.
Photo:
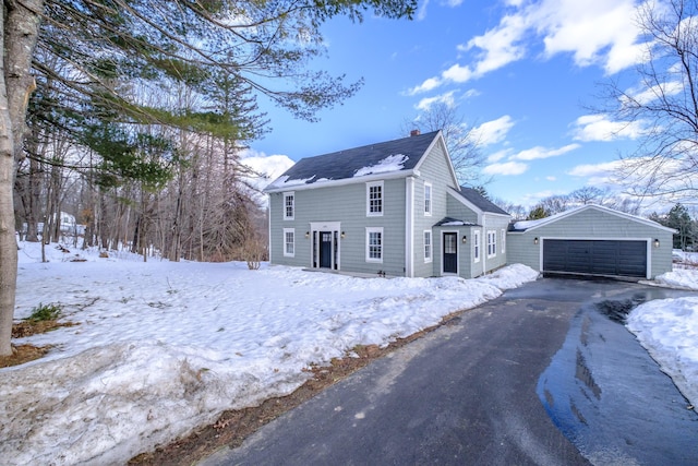
<path fill-rule="evenodd" d="M 359 344 L 387 345 L 538 275 L 512 265 L 471 280 L 353 278 L 82 251 L 86 261 L 71 262 L 75 251 L 53 247 L 40 263 L 37 244 L 21 248 L 15 319 L 58 303 L 79 325 L 14 340 L 52 350 L 0 369 L 3 465 L 123 463 L 225 409 L 292 392 L 310 365 Z M 698 273 L 675 274 L 698 289 Z M 691 393 L 698 301 L 681 301 L 641 306 L 630 328 Z"/>

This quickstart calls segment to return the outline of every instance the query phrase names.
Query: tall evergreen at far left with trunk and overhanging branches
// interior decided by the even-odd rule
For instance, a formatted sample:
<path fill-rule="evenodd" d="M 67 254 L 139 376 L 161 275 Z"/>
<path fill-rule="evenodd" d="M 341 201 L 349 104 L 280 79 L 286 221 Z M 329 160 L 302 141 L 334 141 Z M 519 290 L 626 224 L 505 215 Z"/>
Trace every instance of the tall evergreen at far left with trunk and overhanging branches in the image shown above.
<path fill-rule="evenodd" d="M 313 119 L 318 109 L 351 96 L 360 85 L 310 71 L 309 60 L 324 51 L 323 22 L 336 15 L 361 21 L 366 11 L 411 17 L 416 5 L 416 0 L 5 0 L 0 61 L 0 356 L 11 354 L 16 286 L 14 168 L 25 156 L 26 109 L 37 84 L 46 86 L 40 93 L 50 97 L 43 103 L 61 110 L 55 124 L 82 144 L 97 145 L 104 172 L 157 181 L 170 151 L 155 139 L 144 140 L 145 127 L 205 127 L 222 135 L 229 134 L 230 121 L 212 124 L 203 109 L 182 115 L 144 104 L 144 95 L 178 83 L 195 88 L 203 100 L 215 99 L 206 91 L 213 86 L 205 84 L 224 72 L 297 117 Z"/>

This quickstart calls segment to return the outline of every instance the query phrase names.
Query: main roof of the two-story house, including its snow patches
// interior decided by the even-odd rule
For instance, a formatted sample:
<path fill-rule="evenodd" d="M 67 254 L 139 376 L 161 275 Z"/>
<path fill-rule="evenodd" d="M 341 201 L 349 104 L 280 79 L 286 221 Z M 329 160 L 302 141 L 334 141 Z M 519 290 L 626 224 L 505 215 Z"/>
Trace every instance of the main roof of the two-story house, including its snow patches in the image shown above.
<path fill-rule="evenodd" d="M 410 175 L 436 141 L 440 131 L 364 145 L 298 160 L 264 191 L 310 188 L 373 175 Z"/>

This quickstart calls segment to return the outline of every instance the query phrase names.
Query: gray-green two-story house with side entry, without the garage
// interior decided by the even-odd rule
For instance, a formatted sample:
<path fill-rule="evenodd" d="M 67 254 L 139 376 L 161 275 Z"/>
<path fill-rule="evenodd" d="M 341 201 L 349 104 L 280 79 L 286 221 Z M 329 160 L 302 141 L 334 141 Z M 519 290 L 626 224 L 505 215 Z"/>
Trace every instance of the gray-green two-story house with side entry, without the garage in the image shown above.
<path fill-rule="evenodd" d="M 265 192 L 273 264 L 471 278 L 506 263 L 510 217 L 459 188 L 441 131 L 303 158 Z"/>

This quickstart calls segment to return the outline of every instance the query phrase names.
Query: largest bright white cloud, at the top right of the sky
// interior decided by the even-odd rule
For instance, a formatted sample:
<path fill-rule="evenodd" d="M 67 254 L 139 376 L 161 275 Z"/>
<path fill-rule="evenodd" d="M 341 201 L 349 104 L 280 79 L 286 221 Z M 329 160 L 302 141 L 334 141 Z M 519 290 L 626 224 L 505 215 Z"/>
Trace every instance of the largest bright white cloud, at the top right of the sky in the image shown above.
<path fill-rule="evenodd" d="M 410 95 L 443 84 L 465 83 L 524 59 L 542 45 L 544 57 L 571 53 L 578 67 L 602 67 L 617 73 L 647 57 L 642 53 L 635 0 L 509 0 L 500 23 L 457 47 L 470 61 L 430 77 Z"/>

